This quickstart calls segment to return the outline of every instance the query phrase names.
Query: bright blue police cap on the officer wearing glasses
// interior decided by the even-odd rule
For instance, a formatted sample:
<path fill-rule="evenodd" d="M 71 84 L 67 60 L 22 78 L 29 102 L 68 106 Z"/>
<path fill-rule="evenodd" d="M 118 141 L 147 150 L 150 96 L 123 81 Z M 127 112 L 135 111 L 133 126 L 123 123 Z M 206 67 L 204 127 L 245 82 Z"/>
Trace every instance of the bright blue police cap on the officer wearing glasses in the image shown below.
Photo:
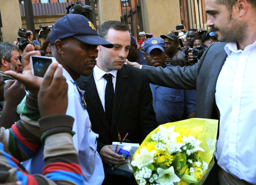
<path fill-rule="evenodd" d="M 147 53 L 150 53 L 151 50 L 159 48 L 162 52 L 165 51 L 165 43 L 162 39 L 157 37 L 152 37 L 150 39 L 147 39 L 144 44 L 144 51 Z"/>

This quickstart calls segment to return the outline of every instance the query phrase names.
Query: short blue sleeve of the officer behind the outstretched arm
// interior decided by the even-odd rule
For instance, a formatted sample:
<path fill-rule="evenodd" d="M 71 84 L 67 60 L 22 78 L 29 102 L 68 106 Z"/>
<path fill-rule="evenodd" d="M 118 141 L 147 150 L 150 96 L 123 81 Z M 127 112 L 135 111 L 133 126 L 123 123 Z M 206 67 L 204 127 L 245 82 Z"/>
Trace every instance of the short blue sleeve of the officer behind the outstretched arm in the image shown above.
<path fill-rule="evenodd" d="M 189 114 L 196 110 L 196 90 L 184 90 L 185 112 Z"/>

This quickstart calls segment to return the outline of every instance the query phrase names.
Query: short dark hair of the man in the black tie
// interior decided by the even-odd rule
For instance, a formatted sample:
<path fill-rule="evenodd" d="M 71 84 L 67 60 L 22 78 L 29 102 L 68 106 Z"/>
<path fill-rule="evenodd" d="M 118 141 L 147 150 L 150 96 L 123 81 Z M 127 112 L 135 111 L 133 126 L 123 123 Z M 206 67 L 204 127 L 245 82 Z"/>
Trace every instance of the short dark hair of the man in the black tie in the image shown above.
<path fill-rule="evenodd" d="M 105 38 L 109 29 L 129 31 L 128 27 L 124 23 L 116 20 L 109 20 L 101 24 L 99 27 L 99 36 Z"/>

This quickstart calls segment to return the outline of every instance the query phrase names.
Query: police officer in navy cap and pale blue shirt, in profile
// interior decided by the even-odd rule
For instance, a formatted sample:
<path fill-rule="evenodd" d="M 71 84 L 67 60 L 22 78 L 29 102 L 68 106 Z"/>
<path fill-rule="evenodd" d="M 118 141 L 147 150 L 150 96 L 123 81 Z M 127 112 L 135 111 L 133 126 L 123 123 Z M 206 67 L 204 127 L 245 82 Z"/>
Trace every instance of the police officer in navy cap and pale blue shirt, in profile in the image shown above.
<path fill-rule="evenodd" d="M 84 91 L 78 88 L 75 81 L 80 75 L 90 75 L 96 64 L 97 45 L 107 48 L 113 48 L 114 45 L 99 37 L 90 20 L 79 14 L 67 14 L 57 20 L 48 37 L 53 57 L 62 64 L 63 76 L 69 85 L 66 114 L 75 119 L 73 142 L 78 152 L 85 184 L 100 185 L 104 180 L 104 170 L 97 152 L 98 134 L 91 130 L 87 104 L 83 97 Z M 42 151 L 27 162 L 26 168 L 32 174 L 42 173 Z M 56 152 L 61 151 L 56 149 Z"/>

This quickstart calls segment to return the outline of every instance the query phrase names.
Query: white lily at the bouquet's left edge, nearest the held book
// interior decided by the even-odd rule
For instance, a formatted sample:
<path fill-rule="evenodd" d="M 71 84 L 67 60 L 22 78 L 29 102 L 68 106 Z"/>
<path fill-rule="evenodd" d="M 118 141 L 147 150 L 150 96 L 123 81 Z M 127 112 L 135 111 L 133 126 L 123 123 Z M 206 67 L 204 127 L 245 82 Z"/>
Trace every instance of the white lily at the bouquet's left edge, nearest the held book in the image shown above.
<path fill-rule="evenodd" d="M 131 162 L 131 165 L 137 166 L 139 169 L 141 169 L 141 167 L 153 163 L 153 157 L 156 152 L 156 150 L 151 150 L 149 152 L 145 147 L 142 147 L 139 151 L 140 154 L 135 154 L 134 160 Z"/>

